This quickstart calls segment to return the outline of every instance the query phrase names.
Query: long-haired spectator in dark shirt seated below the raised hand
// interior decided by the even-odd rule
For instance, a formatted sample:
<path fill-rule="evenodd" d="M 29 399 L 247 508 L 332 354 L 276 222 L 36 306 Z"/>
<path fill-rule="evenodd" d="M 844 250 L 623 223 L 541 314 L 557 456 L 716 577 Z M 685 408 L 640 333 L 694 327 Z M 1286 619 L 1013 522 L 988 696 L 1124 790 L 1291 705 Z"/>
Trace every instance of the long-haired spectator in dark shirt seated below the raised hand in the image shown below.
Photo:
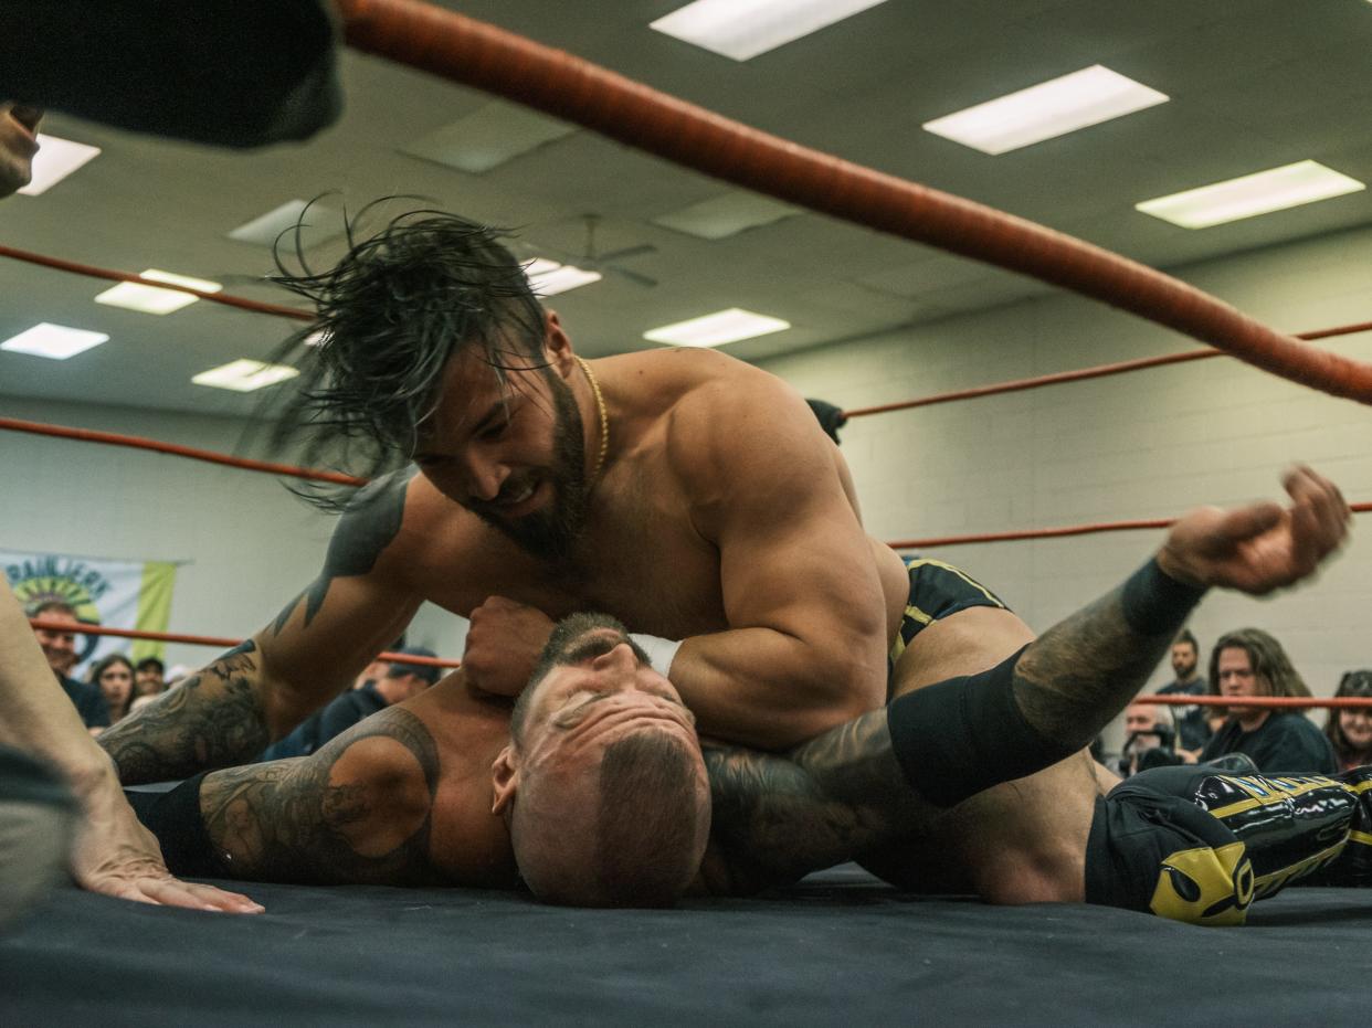
<path fill-rule="evenodd" d="M 1224 696 L 1309 696 L 1281 644 L 1258 628 L 1220 636 L 1210 654 L 1210 680 Z M 1206 743 L 1202 761 L 1246 754 L 1264 774 L 1313 772 L 1334 774 L 1329 740 L 1299 710 L 1229 707 L 1229 715 Z"/>

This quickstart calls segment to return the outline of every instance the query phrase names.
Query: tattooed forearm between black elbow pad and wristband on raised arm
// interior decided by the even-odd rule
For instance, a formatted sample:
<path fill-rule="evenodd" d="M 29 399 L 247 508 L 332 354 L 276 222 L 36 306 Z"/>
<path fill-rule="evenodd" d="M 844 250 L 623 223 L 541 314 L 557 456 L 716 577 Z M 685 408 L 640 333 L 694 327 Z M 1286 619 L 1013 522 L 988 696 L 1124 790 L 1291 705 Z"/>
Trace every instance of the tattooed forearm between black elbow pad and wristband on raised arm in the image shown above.
<path fill-rule="evenodd" d="M 1173 632 L 1129 626 L 1117 588 L 1043 633 L 1015 663 L 1025 720 L 1050 739 L 1087 746 L 1143 688 Z"/>

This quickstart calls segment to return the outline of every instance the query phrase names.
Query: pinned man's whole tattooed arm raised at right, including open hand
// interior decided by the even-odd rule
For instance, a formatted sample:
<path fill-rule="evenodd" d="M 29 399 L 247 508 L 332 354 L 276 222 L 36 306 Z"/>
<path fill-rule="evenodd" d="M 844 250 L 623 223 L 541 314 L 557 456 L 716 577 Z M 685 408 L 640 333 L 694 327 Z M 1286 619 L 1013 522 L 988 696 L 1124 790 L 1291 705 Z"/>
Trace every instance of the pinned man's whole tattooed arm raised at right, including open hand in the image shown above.
<path fill-rule="evenodd" d="M 1202 509 L 1181 518 L 1155 562 L 999 669 L 907 694 L 789 758 L 707 748 L 708 887 L 792 881 L 918 831 L 937 807 L 1080 750 L 1143 687 L 1205 588 L 1269 592 L 1310 576 L 1342 543 L 1347 507 L 1338 489 L 1306 469 L 1286 485 L 1290 509 Z M 985 666 L 982 658 L 970 652 L 971 668 Z M 967 721 L 969 711 L 1004 711 L 1004 702 L 985 702 L 992 689 L 1029 729 L 1017 754 L 1006 752 L 1014 720 L 991 731 L 975 717 Z M 982 699 L 971 699 L 974 691 Z"/>

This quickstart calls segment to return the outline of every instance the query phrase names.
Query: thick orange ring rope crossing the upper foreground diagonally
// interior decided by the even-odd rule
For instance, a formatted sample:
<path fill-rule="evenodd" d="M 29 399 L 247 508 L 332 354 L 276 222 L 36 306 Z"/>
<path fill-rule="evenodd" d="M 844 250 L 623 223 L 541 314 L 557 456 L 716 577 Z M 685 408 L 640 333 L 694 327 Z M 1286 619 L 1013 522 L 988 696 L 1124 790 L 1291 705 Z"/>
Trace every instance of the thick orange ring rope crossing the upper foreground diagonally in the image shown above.
<path fill-rule="evenodd" d="M 528 104 L 788 203 L 1102 300 L 1334 396 L 1372 403 L 1372 366 L 1312 350 L 1151 267 L 971 200 L 862 167 L 420 0 L 340 0 L 364 52 Z"/>

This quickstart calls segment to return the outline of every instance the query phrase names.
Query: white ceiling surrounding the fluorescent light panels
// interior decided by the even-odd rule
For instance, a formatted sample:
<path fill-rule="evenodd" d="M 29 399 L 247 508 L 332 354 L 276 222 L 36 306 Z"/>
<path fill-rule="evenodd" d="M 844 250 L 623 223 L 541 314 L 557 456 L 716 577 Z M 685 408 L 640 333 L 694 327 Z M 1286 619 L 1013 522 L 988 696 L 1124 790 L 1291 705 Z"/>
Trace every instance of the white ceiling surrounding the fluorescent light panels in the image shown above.
<path fill-rule="evenodd" d="M 731 118 L 882 171 L 959 193 L 1176 267 L 1372 221 L 1372 191 L 1191 232 L 1133 204 L 1301 159 L 1372 181 L 1372 3 L 1367 0 L 888 0 L 746 63 L 648 29 L 678 0 L 447 0 L 473 18 L 605 64 Z M 1170 103 L 1002 156 L 919 125 L 1102 63 Z M 328 193 L 355 211 L 427 197 L 520 230 L 527 255 L 579 252 L 582 215 L 601 252 L 652 244 L 622 277 L 550 300 L 579 351 L 650 347 L 642 333 L 723 307 L 790 321 L 726 350 L 745 359 L 884 332 L 1045 288 L 1008 273 L 803 214 L 705 241 L 652 222 L 729 192 L 589 132 L 466 174 L 402 148 L 491 97 L 347 53 L 342 121 L 305 145 L 248 154 L 143 138 L 49 115 L 44 130 L 103 148 L 40 197 L 0 203 L 0 241 L 69 260 L 159 267 L 277 303 L 252 278 L 268 251 L 226 238 L 291 199 Z M 213 112 L 210 112 L 213 117 Z M 392 207 L 398 212 L 399 207 Z M 327 263 L 328 244 L 311 252 Z M 71 360 L 0 352 L 0 393 L 200 413 L 247 413 L 258 396 L 191 376 L 265 359 L 294 322 L 196 303 L 166 317 L 96 306 L 106 284 L 0 258 L 0 339 L 52 321 L 111 341 Z M 1121 315 L 1122 317 L 1122 315 Z M 285 387 L 277 387 L 285 388 Z M 3 403 L 0 403 L 3 410 Z"/>

